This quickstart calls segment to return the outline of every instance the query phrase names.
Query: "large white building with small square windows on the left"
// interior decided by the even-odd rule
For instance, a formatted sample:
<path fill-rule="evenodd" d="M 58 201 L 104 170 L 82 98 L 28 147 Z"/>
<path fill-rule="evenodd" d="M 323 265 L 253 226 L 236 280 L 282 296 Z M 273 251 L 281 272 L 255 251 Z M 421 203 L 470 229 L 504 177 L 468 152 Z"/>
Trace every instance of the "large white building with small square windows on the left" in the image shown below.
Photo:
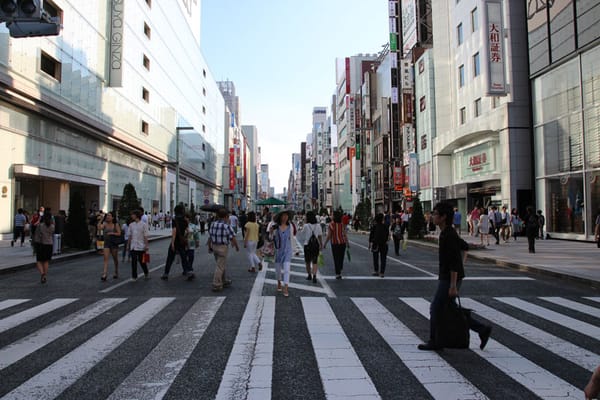
<path fill-rule="evenodd" d="M 218 202 L 226 108 L 200 51 L 200 5 L 44 4 L 59 36 L 14 39 L 0 25 L 0 234 L 17 208 L 67 210 L 74 191 L 111 210 L 128 182 L 151 212 Z"/>

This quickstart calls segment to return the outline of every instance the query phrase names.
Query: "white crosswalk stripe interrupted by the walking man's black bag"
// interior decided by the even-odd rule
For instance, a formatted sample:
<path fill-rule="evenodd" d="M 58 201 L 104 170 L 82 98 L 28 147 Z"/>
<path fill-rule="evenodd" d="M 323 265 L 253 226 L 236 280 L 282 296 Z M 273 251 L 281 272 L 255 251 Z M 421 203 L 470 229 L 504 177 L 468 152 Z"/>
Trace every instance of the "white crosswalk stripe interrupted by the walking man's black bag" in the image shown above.
<path fill-rule="evenodd" d="M 404 297 L 400 300 L 429 319 L 429 302 L 425 299 Z M 490 338 L 485 350 L 482 351 L 479 349 L 479 336 L 471 335 L 470 349 L 543 399 L 581 397 L 581 389 L 551 374 L 494 339 Z"/>

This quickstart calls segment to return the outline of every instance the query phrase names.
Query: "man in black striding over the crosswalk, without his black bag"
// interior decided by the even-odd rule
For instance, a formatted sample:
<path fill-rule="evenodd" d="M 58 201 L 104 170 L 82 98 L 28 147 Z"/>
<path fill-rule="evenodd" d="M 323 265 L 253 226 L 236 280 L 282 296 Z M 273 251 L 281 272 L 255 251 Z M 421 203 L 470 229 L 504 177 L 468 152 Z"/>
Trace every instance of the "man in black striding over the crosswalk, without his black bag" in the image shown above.
<path fill-rule="evenodd" d="M 463 255 L 461 252 L 467 251 L 469 245 L 452 228 L 453 217 L 454 210 L 449 203 L 441 202 L 433 208 L 433 222 L 441 230 L 439 239 L 439 283 L 429 309 L 431 315 L 429 341 L 420 344 L 418 346 L 419 350 L 442 349 L 442 346 L 435 342 L 440 314 L 449 302 L 455 301 L 462 279 L 465 277 Z M 492 327 L 483 325 L 481 322 L 470 317 L 469 328 L 479 334 L 479 338 L 481 339 L 479 348 L 483 350 L 490 338 Z"/>

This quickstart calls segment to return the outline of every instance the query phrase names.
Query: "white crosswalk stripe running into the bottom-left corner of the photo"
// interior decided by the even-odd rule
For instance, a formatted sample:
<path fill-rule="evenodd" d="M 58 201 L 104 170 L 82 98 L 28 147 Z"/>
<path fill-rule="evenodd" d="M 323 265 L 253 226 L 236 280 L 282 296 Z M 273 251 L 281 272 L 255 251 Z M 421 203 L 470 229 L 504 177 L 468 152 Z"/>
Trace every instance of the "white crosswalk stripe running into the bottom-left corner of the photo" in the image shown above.
<path fill-rule="evenodd" d="M 171 303 L 151 298 L 2 398 L 54 399 Z"/>

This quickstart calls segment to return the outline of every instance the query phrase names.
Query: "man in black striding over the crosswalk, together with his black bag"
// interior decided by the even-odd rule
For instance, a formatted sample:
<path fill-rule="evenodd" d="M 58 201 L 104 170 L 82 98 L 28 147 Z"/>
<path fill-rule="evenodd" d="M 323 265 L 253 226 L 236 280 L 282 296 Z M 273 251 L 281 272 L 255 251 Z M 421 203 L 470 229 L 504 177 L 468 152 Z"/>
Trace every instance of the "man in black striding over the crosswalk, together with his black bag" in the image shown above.
<path fill-rule="evenodd" d="M 468 310 L 462 309 L 455 302 L 462 279 L 465 277 L 462 252 L 467 251 L 469 245 L 452 228 L 453 218 L 454 207 L 450 203 L 441 202 L 433 208 L 433 222 L 441 230 L 439 238 L 439 282 L 429 309 L 431 315 L 429 341 L 420 344 L 418 346 L 419 350 L 468 347 L 468 330 L 464 329 L 465 322 L 470 329 L 479 334 L 481 339 L 479 348 L 482 350 L 492 332 L 491 326 L 483 325 L 474 319 Z M 452 326 L 449 326 L 450 324 Z M 467 334 L 466 343 L 464 333 Z"/>

